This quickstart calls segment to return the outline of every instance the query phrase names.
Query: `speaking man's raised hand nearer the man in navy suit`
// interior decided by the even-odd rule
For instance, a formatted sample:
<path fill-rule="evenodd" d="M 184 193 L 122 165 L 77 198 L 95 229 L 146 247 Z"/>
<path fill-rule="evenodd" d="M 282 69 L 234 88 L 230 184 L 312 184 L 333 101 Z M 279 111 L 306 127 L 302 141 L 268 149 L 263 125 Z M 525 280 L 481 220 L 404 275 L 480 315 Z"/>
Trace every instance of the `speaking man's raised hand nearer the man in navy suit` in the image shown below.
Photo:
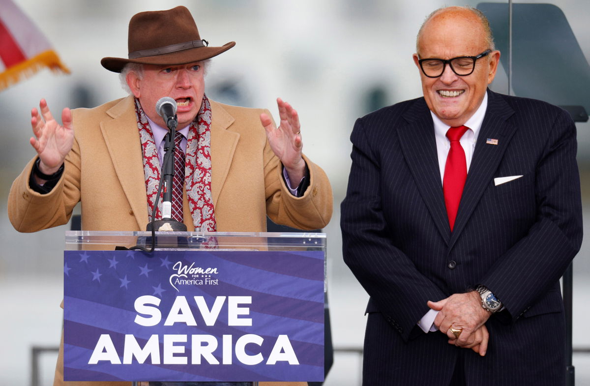
<path fill-rule="evenodd" d="M 260 115 L 260 122 L 266 130 L 270 148 L 273 149 L 289 174 L 289 181 L 291 184 L 299 185 L 305 176 L 305 161 L 301 156 L 303 141 L 301 140 L 299 116 L 289 103 L 283 102 L 280 98 L 277 98 L 277 106 L 278 115 L 281 118 L 281 124 L 278 127 L 264 113 Z"/>

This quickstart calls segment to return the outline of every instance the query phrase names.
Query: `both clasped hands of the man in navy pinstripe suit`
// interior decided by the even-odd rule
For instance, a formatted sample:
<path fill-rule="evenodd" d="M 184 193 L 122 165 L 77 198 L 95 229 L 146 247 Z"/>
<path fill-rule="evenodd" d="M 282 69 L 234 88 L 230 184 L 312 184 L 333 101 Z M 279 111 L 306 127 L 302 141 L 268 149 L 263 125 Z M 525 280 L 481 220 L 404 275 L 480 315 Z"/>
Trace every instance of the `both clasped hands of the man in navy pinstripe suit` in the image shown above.
<path fill-rule="evenodd" d="M 455 293 L 439 302 L 428 302 L 428 307 L 438 311 L 434 325 L 448 336 L 448 343 L 470 348 L 479 355 L 486 355 L 489 333 L 486 320 L 491 312 L 481 307 L 481 297 L 477 291 Z M 450 330 L 460 330 L 458 336 Z"/>

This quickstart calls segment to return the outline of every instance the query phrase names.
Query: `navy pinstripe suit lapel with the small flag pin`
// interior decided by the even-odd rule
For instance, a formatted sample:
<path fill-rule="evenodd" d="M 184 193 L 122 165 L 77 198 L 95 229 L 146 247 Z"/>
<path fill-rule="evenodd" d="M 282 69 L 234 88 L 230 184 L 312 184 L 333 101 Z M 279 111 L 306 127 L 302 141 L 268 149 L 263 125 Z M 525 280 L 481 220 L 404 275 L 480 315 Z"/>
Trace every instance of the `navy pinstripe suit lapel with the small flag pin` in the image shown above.
<path fill-rule="evenodd" d="M 488 91 L 487 103 L 486 116 L 477 136 L 476 148 L 471 159 L 463 195 L 461 195 L 449 250 L 465 228 L 481 195 L 489 187 L 494 172 L 516 130 L 516 127 L 507 122 L 514 110 L 499 94 Z M 486 143 L 487 139 L 497 139 L 497 145 Z"/>

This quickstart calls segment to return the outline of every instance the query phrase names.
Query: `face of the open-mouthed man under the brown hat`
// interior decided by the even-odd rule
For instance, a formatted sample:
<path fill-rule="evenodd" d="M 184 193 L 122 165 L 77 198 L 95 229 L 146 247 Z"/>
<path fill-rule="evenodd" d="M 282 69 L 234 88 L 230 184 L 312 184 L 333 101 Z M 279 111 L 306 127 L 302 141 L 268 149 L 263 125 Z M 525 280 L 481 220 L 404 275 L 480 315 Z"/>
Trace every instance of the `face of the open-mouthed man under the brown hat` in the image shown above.
<path fill-rule="evenodd" d="M 178 127 L 185 127 L 201 109 L 205 93 L 203 62 L 175 66 L 145 64 L 141 76 L 133 71 L 127 74 L 127 84 L 149 119 L 163 127 L 166 125 L 156 113 L 156 102 L 165 96 L 174 99 L 178 106 Z"/>

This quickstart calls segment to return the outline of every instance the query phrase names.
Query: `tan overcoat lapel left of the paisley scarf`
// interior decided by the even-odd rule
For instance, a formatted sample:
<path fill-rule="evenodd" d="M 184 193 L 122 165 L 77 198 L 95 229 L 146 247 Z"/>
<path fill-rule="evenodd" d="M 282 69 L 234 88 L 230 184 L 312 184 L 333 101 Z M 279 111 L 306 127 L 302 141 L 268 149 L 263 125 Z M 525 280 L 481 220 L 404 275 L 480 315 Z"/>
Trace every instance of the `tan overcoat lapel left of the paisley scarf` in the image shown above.
<path fill-rule="evenodd" d="M 100 130 L 109 149 L 117 178 L 135 215 L 137 227 L 145 230 L 145 225 L 148 224 L 146 187 L 133 101 L 133 97 L 129 96 L 111 107 L 107 114 L 113 119 L 101 122 Z"/>

